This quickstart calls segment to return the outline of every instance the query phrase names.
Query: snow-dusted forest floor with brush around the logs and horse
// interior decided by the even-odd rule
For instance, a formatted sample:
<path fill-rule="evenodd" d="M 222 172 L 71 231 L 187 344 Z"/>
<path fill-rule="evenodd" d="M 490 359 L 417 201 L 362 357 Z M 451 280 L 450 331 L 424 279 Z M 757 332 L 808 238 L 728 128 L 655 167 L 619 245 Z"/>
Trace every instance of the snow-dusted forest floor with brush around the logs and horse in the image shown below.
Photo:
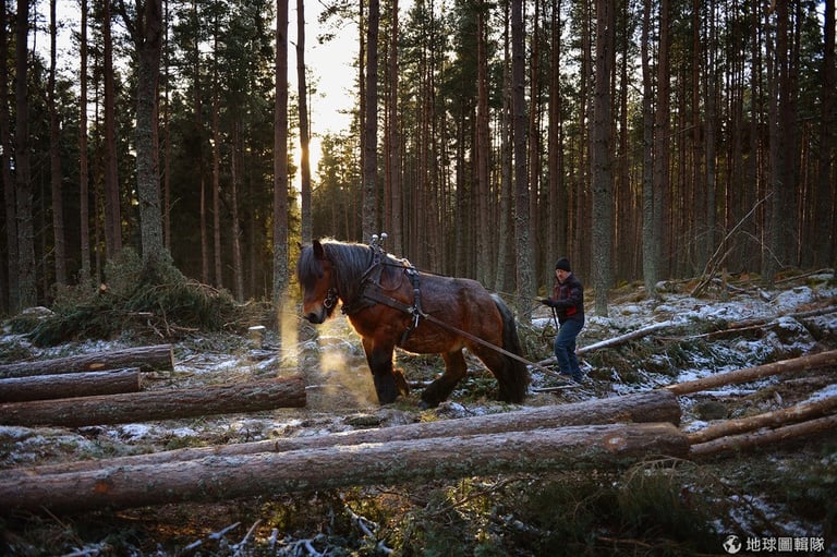
<path fill-rule="evenodd" d="M 655 324 L 665 327 L 585 352 L 586 379 L 579 387 L 550 391 L 560 384 L 556 374 L 533 371 L 523 407 L 642 392 L 837 349 L 832 270 L 790 274 L 771 291 L 747 277 L 702 298 L 689 294 L 692 286 L 666 283 L 658 301 L 646 300 L 636 284 L 615 290 L 607 317 L 587 316 L 580 347 Z M 794 317 L 811 310 L 826 311 Z M 763 322 L 729 329 L 752 319 Z M 0 475 L 39 464 L 521 408 L 494 401 L 494 379 L 469 358 L 469 376 L 451 399 L 422 410 L 421 385 L 440 372 L 441 360 L 403 353 L 399 365 L 417 388 L 408 399 L 379 407 L 360 341 L 341 316 L 318 329 L 287 328 L 299 332 L 281 340 L 268 334 L 258 343 L 246 335 L 190 334 L 173 342 L 174 370 L 145 374 L 143 388 L 302 374 L 306 408 L 80 428 L 0 426 Z M 520 334 L 531 360 L 550 355 L 555 328 L 543 308 Z M 0 363 L 141 343 L 150 342 L 125 331 L 112 341 L 43 349 L 7 332 L 0 335 Z M 694 432 L 713 421 L 837 396 L 835 371 L 830 366 L 681 397 L 681 428 Z M 826 431 L 700 461 L 656 459 L 618 471 L 580 468 L 69 516 L 3 513 L 0 555 L 724 555 L 736 553 L 730 536 L 737 536 L 744 555 L 837 555 L 835 497 L 837 433 Z"/>

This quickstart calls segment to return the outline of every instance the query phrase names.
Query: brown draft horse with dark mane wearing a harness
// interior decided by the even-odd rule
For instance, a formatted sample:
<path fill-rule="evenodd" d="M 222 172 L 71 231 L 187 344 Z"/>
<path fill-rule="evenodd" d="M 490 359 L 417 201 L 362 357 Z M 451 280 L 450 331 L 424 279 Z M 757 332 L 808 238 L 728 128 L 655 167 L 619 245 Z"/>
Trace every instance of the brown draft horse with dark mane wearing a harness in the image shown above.
<path fill-rule="evenodd" d="M 403 373 L 392 366 L 396 347 L 440 353 L 445 360 L 445 373 L 422 393 L 424 405 L 446 400 L 464 377 L 463 348 L 497 378 L 500 400 L 523 401 L 529 386 L 525 364 L 473 341 L 476 337 L 509 353 L 522 353 L 514 317 L 480 282 L 420 273 L 376 245 L 333 240 L 303 247 L 296 276 L 303 291 L 302 313 L 308 322 L 325 322 L 338 300 L 342 302 L 343 313 L 362 338 L 381 404 L 409 392 Z"/>

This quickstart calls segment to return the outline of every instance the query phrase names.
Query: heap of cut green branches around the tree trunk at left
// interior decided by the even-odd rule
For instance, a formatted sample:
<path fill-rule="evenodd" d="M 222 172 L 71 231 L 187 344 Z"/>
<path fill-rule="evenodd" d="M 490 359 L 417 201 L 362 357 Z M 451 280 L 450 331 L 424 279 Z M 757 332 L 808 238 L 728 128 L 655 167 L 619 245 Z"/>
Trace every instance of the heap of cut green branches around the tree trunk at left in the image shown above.
<path fill-rule="evenodd" d="M 185 278 L 171 262 L 144 265 L 125 249 L 105 270 L 101 288 L 80 286 L 60 292 L 53 315 L 31 329 L 34 343 L 119 335 L 173 338 L 190 330 L 223 330 L 242 316 L 229 293 Z"/>

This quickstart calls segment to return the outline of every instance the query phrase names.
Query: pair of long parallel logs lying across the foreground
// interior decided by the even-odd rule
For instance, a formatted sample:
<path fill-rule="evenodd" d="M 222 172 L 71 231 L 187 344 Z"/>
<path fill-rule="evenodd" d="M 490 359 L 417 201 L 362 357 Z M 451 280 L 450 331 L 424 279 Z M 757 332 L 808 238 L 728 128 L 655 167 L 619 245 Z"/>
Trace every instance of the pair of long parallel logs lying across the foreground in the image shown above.
<path fill-rule="evenodd" d="M 643 412 L 643 404 L 651 411 Z M 688 438 L 674 423 L 606 423 L 626 419 L 679 423 L 680 409 L 674 395 L 654 391 L 312 439 L 11 470 L 0 479 L 0 497 L 9 510 L 77 512 L 482 474 L 614 468 L 650 456 L 688 455 Z M 578 425 L 589 420 L 602 424 Z"/>

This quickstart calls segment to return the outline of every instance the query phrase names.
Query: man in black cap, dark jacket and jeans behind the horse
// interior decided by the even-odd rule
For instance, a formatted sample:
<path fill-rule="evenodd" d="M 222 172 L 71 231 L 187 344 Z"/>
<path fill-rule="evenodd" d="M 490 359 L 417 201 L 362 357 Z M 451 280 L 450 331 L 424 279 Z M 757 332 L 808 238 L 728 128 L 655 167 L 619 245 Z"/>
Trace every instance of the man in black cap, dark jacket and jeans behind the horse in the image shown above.
<path fill-rule="evenodd" d="M 583 375 L 575 356 L 575 337 L 584 327 L 584 286 L 572 274 L 566 257 L 555 264 L 553 296 L 541 303 L 553 307 L 558 315 L 558 335 L 555 337 L 555 359 L 561 375 L 581 383 Z"/>

